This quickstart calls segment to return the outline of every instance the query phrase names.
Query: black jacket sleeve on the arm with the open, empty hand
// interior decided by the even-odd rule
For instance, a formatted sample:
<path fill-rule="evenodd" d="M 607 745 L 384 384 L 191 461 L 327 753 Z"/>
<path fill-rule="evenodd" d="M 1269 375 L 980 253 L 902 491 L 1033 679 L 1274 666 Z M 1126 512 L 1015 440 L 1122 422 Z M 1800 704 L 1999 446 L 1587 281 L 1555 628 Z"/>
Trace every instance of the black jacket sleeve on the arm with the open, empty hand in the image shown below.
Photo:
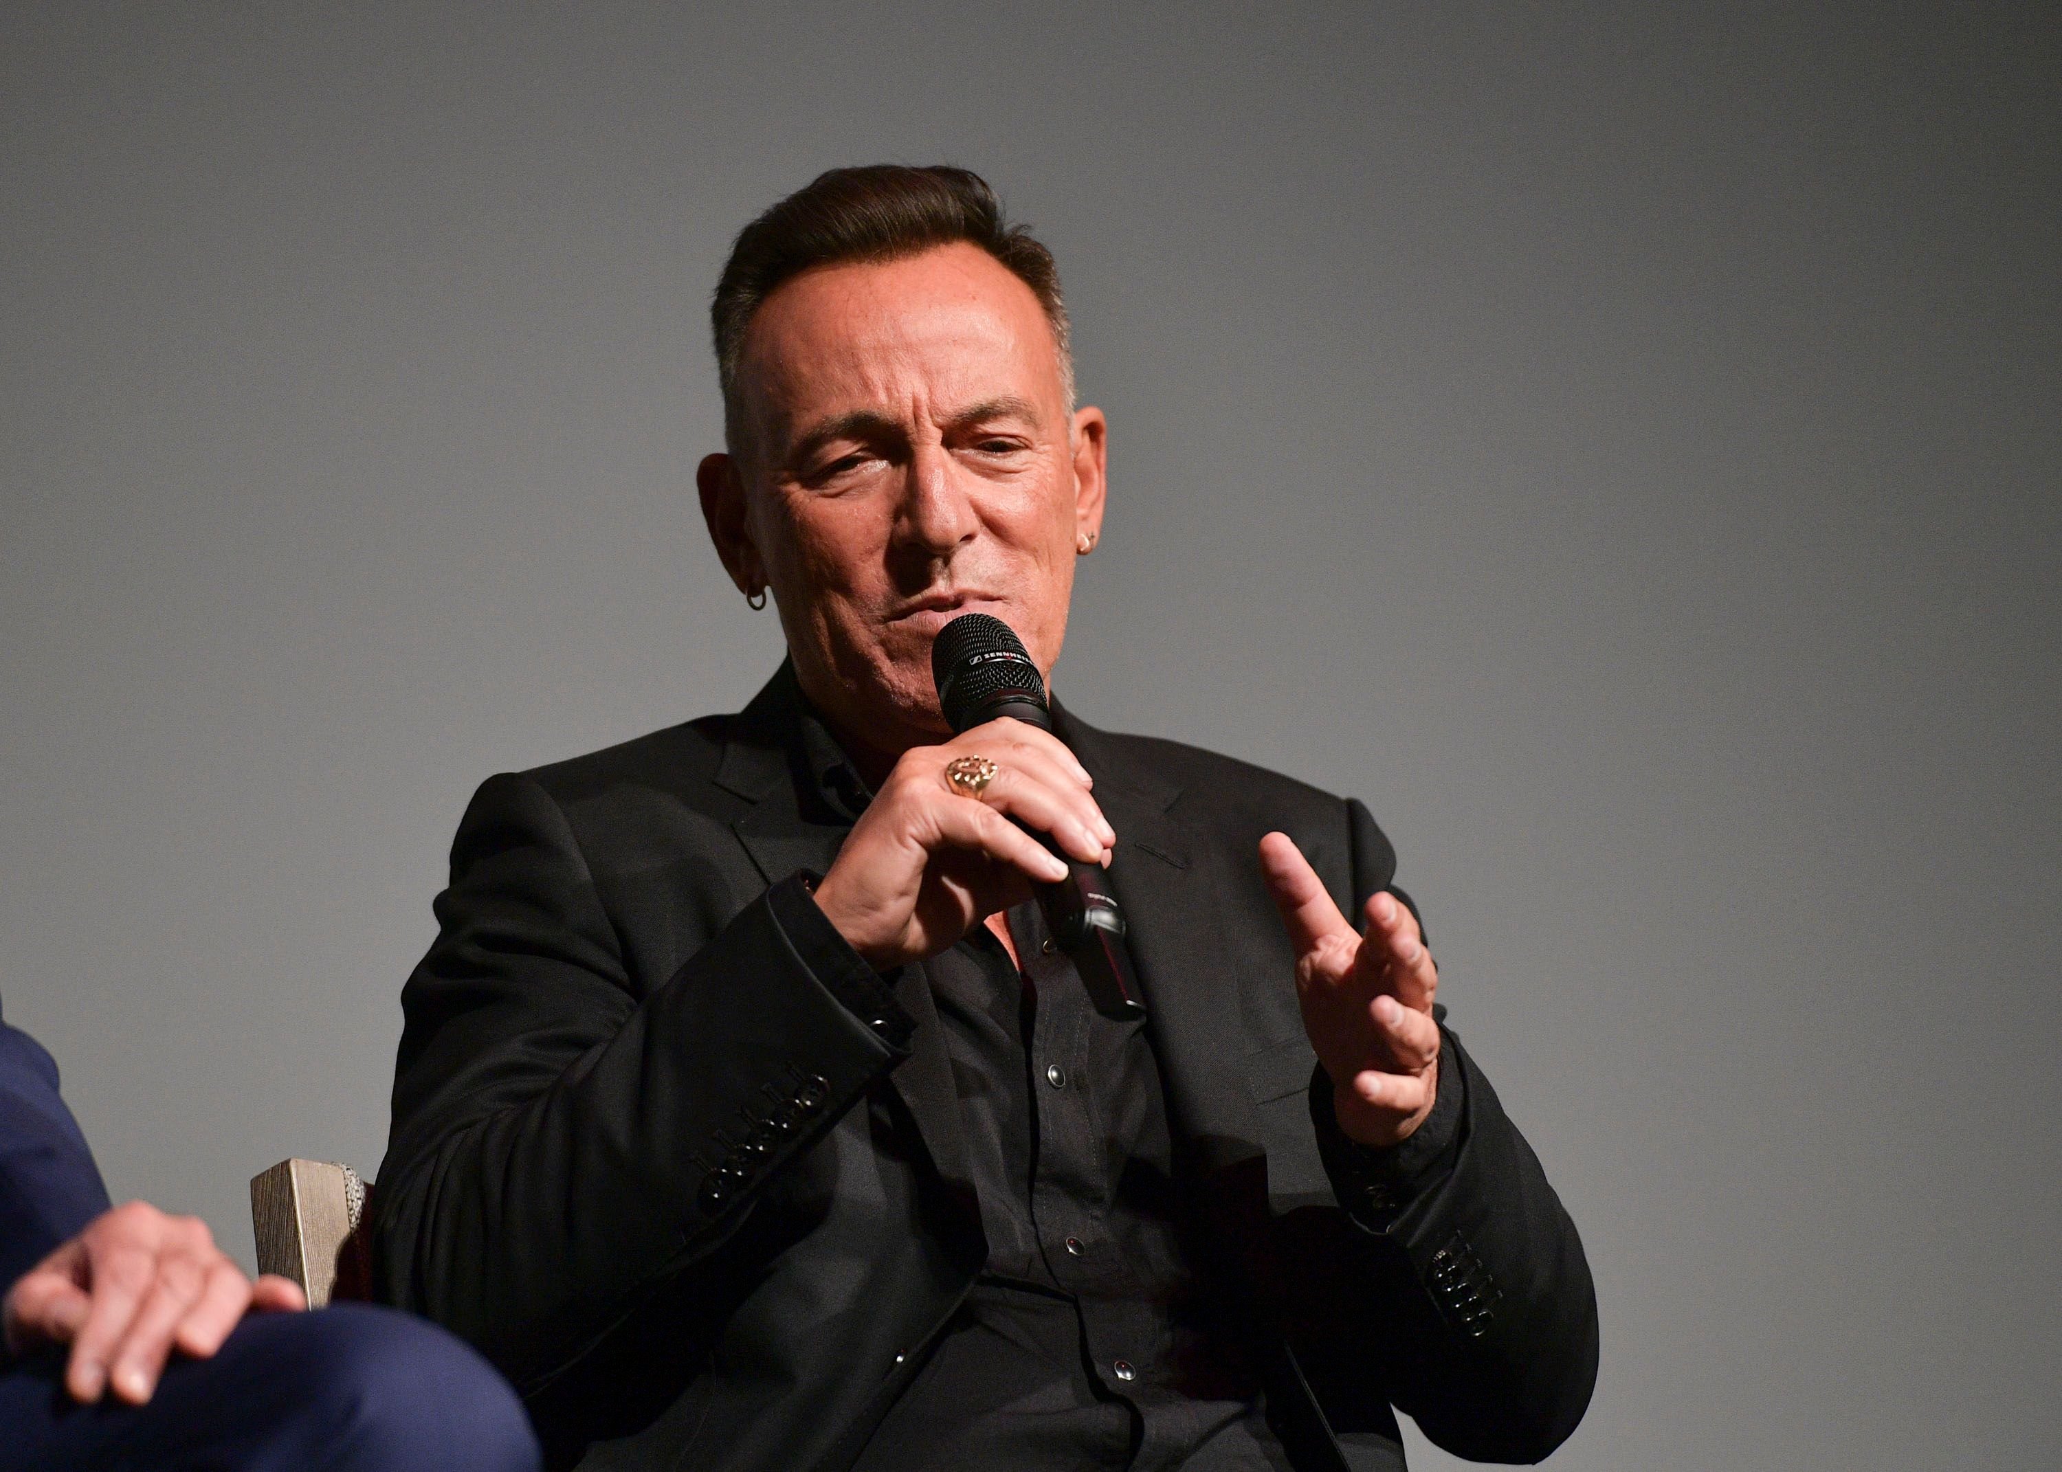
<path fill-rule="evenodd" d="M 1390 886 L 1394 858 L 1359 802 L 1351 825 L 1355 897 L 1365 901 Z M 1456 1456 L 1538 1462 L 1590 1404 L 1596 1289 L 1538 1157 L 1443 1023 L 1439 1068 L 1443 1138 L 1402 1157 L 1346 1140 L 1320 1068 L 1320 1155 L 1365 1245 L 1357 1276 L 1373 1303 L 1363 1326 L 1384 1326 L 1377 1359 L 1390 1400 Z M 1336 1379 L 1338 1354 L 1318 1359 L 1328 1363 L 1313 1379 Z"/>

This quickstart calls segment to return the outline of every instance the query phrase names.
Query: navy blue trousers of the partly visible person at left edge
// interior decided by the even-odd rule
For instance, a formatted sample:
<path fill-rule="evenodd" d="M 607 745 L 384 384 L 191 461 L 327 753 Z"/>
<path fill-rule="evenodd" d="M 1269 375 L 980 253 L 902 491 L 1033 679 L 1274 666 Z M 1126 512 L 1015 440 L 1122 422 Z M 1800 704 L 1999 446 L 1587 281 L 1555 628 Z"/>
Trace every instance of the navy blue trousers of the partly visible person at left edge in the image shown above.
<path fill-rule="evenodd" d="M 64 1361 L 0 1371 L 0 1472 L 536 1472 L 530 1418 L 472 1348 L 406 1313 L 254 1313 L 173 1357 L 146 1406 L 78 1406 Z"/>

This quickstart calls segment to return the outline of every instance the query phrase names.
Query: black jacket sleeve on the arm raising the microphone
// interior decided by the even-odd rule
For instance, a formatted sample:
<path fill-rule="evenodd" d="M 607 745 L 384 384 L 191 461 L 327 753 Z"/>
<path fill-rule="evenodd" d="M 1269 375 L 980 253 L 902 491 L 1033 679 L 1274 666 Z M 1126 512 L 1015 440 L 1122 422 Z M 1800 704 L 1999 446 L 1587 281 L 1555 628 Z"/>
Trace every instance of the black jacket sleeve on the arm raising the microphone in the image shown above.
<path fill-rule="evenodd" d="M 901 1058 L 907 1014 L 802 878 L 633 994 L 557 802 L 480 788 L 402 992 L 373 1192 L 381 1299 L 534 1390 L 751 1233 L 753 1204 Z"/>

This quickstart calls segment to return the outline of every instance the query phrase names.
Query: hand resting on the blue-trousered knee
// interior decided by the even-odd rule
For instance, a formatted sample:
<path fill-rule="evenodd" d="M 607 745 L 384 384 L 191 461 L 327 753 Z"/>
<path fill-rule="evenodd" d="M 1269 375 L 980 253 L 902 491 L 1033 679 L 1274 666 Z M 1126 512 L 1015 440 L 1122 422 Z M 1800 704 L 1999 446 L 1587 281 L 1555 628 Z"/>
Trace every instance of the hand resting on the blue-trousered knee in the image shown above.
<path fill-rule="evenodd" d="M 245 1311 L 305 1307 L 287 1278 L 245 1278 L 198 1216 L 130 1202 L 101 1212 L 25 1272 L 0 1324 L 14 1354 L 70 1344 L 64 1385 L 76 1400 L 95 1402 L 111 1385 L 140 1406 L 173 1348 L 206 1359 Z"/>

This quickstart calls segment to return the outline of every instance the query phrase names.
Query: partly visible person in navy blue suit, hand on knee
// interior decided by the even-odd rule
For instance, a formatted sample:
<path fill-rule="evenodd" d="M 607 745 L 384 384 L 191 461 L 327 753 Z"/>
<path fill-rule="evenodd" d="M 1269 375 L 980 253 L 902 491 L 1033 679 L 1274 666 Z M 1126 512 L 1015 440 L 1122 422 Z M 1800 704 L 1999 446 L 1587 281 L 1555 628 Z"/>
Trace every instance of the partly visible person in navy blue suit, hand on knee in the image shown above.
<path fill-rule="evenodd" d="M 507 1383 L 402 1313 L 252 1282 L 194 1216 L 107 1204 L 33 1037 L 0 1023 L 0 1472 L 526 1472 Z M 250 1317 L 245 1317 L 250 1313 Z"/>

